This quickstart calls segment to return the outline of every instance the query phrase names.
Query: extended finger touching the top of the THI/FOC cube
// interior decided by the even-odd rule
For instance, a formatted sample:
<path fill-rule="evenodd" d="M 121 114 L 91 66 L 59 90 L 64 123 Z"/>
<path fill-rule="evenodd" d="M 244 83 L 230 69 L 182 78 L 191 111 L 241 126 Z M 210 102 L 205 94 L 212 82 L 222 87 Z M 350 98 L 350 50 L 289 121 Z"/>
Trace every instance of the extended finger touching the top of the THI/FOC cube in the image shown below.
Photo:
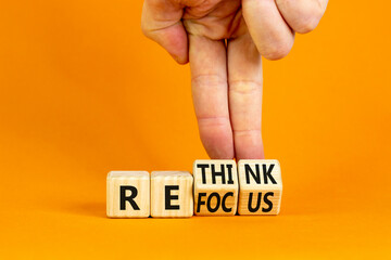
<path fill-rule="evenodd" d="M 234 158 L 224 41 L 189 35 L 191 89 L 201 141 L 213 159 Z"/>

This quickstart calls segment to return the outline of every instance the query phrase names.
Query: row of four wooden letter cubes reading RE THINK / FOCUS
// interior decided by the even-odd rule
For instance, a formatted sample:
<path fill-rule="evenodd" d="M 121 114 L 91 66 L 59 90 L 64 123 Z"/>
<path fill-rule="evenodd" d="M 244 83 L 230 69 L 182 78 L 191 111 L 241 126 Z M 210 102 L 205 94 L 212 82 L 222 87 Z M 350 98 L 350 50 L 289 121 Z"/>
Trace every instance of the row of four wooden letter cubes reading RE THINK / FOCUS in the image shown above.
<path fill-rule="evenodd" d="M 110 218 L 278 214 L 282 195 L 278 160 L 195 160 L 187 171 L 111 171 Z"/>

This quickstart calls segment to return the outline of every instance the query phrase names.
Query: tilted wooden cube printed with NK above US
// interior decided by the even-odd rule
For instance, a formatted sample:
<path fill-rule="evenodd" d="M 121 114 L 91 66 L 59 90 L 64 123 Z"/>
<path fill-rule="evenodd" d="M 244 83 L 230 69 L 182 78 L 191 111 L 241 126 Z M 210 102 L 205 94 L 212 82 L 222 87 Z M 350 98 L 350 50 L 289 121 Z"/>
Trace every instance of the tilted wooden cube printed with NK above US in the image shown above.
<path fill-rule="evenodd" d="M 239 214 L 278 214 L 282 180 L 278 160 L 239 160 Z"/>

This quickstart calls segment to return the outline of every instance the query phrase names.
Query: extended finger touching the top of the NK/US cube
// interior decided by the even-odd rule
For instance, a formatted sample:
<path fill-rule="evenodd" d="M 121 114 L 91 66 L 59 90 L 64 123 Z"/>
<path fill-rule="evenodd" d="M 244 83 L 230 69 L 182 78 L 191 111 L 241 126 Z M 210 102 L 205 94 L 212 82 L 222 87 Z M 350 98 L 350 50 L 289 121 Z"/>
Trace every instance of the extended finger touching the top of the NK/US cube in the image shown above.
<path fill-rule="evenodd" d="M 228 41 L 228 84 L 236 158 L 262 159 L 262 58 L 249 34 Z"/>

